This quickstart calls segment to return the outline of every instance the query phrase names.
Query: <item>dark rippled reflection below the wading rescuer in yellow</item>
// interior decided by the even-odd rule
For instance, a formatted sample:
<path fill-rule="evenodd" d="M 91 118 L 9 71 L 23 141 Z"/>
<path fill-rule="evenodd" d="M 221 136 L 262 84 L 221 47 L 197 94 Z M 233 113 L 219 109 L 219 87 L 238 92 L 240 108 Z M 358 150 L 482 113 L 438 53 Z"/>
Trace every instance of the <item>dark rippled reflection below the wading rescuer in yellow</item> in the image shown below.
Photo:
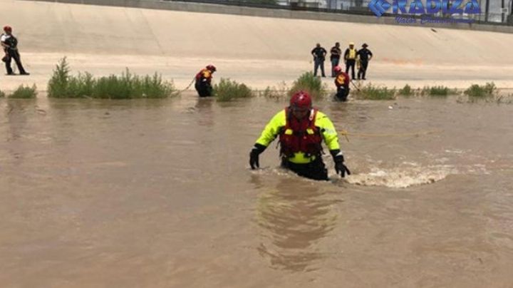
<path fill-rule="evenodd" d="M 252 182 L 258 186 L 258 180 Z M 331 205 L 339 201 L 319 189 L 317 182 L 281 179 L 275 189 L 259 196 L 257 222 L 264 240 L 257 250 L 273 268 L 314 269 L 311 265 L 323 258 L 316 245 L 335 228 L 337 215 Z"/>

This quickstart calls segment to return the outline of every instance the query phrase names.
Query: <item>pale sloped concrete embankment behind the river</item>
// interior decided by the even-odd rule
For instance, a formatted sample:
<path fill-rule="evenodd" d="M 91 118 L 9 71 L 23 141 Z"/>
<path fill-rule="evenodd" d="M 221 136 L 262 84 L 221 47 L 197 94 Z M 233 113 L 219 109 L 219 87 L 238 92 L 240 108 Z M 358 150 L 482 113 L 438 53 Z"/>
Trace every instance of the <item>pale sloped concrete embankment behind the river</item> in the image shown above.
<path fill-rule="evenodd" d="M 31 72 L 26 77 L 1 76 L 2 90 L 21 83 L 36 83 L 40 90 L 46 89 L 53 67 L 63 56 L 68 57 L 73 71 L 90 71 L 95 76 L 120 73 L 125 68 L 134 73 L 157 71 L 174 79 L 178 88 L 184 88 L 199 68 L 214 63 L 218 67 L 216 78 L 265 88 L 281 81 L 290 83 L 311 70 L 310 51 L 315 43 L 329 50 L 336 41 L 343 48 L 349 41 L 357 46 L 369 44 L 375 54 L 368 73 L 373 83 L 465 88 L 471 83 L 494 81 L 499 87 L 513 88 L 513 56 L 507 53 L 513 37 L 508 33 L 385 25 L 370 20 L 362 23 L 127 7 L 137 6 L 130 3 L 150 5 L 152 1 L 122 1 L 118 7 L 1 2 L 0 19 L 13 26 L 22 60 Z M 203 5 L 205 12 L 209 7 L 214 9 L 207 4 L 172 5 L 183 5 L 181 10 L 193 5 Z M 269 11 L 273 13 L 279 12 Z M 326 61 L 327 73 L 329 66 Z M 331 78 L 325 81 L 331 83 Z"/>

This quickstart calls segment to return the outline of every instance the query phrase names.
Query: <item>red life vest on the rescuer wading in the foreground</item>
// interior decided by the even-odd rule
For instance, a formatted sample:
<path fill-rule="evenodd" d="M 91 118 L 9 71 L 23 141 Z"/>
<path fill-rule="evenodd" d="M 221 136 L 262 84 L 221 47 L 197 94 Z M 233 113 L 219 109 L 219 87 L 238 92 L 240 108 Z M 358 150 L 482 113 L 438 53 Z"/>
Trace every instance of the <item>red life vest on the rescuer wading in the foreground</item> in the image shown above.
<path fill-rule="evenodd" d="M 315 125 L 317 109 L 312 109 L 309 117 L 297 120 L 289 108 L 285 108 L 286 123 L 279 133 L 280 154 L 286 157 L 294 153 L 305 153 L 306 157 L 322 153 L 321 131 Z"/>

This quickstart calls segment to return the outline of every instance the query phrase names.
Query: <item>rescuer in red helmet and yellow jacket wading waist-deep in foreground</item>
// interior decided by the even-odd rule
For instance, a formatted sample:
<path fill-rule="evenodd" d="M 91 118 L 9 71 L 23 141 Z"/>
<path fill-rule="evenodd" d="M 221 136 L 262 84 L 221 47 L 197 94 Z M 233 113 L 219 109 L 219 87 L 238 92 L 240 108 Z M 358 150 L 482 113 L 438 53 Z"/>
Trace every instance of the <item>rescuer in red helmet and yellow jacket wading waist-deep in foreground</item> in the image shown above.
<path fill-rule="evenodd" d="M 351 172 L 344 165 L 338 145 L 338 133 L 331 120 L 321 111 L 312 108 L 311 97 L 304 91 L 295 93 L 290 106 L 276 113 L 267 123 L 260 138 L 249 153 L 249 165 L 259 168 L 259 155 L 279 136 L 281 167 L 314 180 L 328 180 L 328 170 L 323 163 L 322 141 L 330 150 L 337 174 L 344 177 Z"/>

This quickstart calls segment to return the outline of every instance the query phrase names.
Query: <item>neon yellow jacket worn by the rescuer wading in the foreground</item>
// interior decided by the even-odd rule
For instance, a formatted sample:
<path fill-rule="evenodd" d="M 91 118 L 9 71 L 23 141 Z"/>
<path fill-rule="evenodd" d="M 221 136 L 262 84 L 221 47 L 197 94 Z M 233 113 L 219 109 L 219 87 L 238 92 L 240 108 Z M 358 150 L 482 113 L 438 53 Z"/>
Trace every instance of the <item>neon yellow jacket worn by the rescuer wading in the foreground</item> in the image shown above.
<path fill-rule="evenodd" d="M 265 147 L 278 137 L 281 130 L 286 125 L 286 109 L 276 113 L 273 118 L 267 123 L 266 127 L 262 131 L 260 138 L 257 139 L 257 144 L 264 145 Z M 329 150 L 340 150 L 338 145 L 338 133 L 335 130 L 335 126 L 326 114 L 321 111 L 317 111 L 315 125 L 321 132 L 324 143 Z M 305 153 L 294 153 L 294 156 L 288 158 L 292 163 L 306 164 L 315 160 L 315 156 L 306 157 Z"/>

